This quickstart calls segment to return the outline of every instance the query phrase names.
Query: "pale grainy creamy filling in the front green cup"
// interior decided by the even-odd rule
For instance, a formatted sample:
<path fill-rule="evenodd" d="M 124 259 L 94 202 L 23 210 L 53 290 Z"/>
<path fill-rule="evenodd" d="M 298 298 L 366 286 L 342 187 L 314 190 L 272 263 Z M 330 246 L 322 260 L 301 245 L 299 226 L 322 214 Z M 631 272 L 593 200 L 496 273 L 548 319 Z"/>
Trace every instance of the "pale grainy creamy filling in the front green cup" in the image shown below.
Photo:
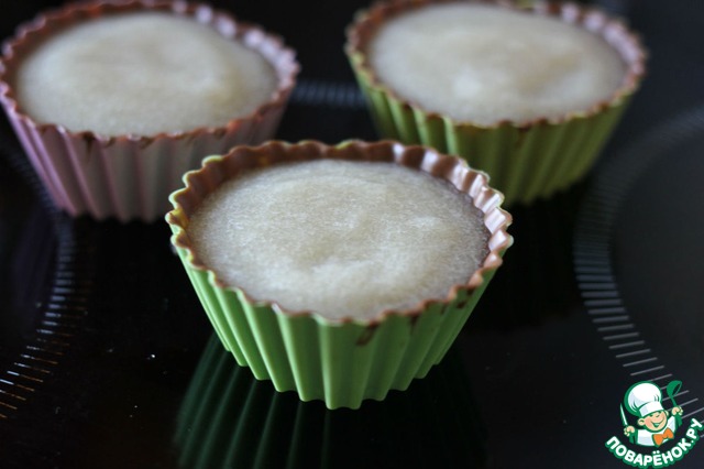
<path fill-rule="evenodd" d="M 323 160 L 226 183 L 187 231 L 206 265 L 256 299 L 372 318 L 465 284 L 488 253 L 482 220 L 425 173 Z"/>

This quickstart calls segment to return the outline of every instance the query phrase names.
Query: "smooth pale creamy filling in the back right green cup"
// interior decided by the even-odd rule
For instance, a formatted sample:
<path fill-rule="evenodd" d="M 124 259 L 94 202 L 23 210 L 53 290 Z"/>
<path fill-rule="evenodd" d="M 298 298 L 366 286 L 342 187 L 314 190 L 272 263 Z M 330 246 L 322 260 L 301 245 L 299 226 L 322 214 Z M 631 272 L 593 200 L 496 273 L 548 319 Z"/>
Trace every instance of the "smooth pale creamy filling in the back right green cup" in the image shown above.
<path fill-rule="evenodd" d="M 586 30 L 473 3 L 393 18 L 369 54 L 381 80 L 400 97 L 480 124 L 586 110 L 612 96 L 626 69 L 618 53 Z"/>

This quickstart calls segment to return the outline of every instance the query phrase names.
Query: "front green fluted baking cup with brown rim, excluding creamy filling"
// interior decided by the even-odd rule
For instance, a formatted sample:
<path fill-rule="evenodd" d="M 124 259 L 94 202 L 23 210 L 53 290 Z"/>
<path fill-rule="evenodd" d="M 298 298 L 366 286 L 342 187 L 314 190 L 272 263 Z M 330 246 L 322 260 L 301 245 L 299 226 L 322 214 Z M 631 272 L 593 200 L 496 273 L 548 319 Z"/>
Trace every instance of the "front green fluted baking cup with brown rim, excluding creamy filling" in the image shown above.
<path fill-rule="evenodd" d="M 249 168 L 320 157 L 396 162 L 443 177 L 470 194 L 490 231 L 490 252 L 482 266 L 466 284 L 453 286 L 444 301 L 380 312 L 367 320 L 286 312 L 220 282 L 199 261 L 186 232 L 199 201 Z M 204 167 L 184 181 L 187 187 L 172 195 L 175 208 L 166 217 L 172 242 L 224 348 L 256 379 L 271 380 L 278 391 L 296 390 L 302 401 L 323 400 L 329 408 L 358 408 L 365 399 L 383 400 L 389 390 L 405 390 L 413 379 L 425 377 L 454 341 L 513 242 L 506 232 L 510 216 L 499 208 L 501 194 L 486 185 L 486 176 L 459 159 L 422 146 L 271 142 L 206 159 Z"/>

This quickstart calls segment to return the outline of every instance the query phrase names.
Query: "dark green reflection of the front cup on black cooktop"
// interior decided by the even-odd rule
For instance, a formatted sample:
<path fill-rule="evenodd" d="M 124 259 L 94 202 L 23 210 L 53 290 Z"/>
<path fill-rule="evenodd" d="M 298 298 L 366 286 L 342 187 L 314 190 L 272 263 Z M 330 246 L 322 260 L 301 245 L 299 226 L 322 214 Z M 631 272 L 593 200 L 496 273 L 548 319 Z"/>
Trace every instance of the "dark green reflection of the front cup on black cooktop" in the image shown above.
<path fill-rule="evenodd" d="M 329 411 L 278 393 L 213 336 L 182 403 L 183 468 L 484 467 L 485 434 L 460 358 L 360 410 Z"/>

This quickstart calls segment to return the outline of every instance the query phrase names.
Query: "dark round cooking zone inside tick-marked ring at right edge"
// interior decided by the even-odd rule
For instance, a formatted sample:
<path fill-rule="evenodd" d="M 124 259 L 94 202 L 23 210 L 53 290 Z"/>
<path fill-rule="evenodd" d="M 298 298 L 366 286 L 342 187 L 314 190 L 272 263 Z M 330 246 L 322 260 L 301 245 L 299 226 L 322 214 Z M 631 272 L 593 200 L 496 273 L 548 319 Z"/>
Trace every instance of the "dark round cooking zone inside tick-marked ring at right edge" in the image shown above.
<path fill-rule="evenodd" d="M 653 356 L 696 390 L 689 399 L 704 391 L 702 154 L 704 103 L 635 141 L 616 162 L 632 168 L 632 182 L 614 197 L 610 240 L 624 305 Z M 685 412 L 695 410 L 701 402 Z"/>

